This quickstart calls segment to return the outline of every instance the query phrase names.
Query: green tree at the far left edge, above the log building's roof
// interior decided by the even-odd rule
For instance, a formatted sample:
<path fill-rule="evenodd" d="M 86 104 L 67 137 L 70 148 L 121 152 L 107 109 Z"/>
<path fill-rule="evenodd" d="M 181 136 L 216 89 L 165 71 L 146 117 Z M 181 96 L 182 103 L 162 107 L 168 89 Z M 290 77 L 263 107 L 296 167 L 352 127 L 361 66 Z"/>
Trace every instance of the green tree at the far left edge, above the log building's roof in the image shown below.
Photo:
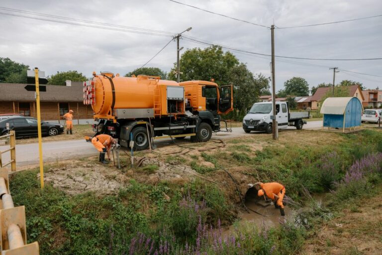
<path fill-rule="evenodd" d="M 28 65 L 0 58 L 0 82 L 26 83 L 26 70 L 29 70 Z"/>

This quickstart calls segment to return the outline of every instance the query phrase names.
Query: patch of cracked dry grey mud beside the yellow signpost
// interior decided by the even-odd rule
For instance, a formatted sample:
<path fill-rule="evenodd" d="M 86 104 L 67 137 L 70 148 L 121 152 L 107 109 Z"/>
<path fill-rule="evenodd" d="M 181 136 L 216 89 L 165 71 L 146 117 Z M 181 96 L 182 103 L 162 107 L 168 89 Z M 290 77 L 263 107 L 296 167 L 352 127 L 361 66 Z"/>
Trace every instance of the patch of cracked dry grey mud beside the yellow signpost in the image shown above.
<path fill-rule="evenodd" d="M 40 174 L 37 174 L 40 178 Z M 76 162 L 65 167 L 50 168 L 44 174 L 45 181 L 70 195 L 86 191 L 113 194 L 125 186 L 127 178 L 116 169 L 97 164 Z"/>

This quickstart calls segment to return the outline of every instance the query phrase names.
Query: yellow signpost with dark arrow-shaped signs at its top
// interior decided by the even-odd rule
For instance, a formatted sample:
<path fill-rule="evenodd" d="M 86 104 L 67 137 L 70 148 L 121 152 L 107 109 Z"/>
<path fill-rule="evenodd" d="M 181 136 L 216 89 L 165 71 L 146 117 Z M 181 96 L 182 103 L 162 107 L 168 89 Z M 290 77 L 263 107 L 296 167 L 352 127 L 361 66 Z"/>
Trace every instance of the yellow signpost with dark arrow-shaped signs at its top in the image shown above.
<path fill-rule="evenodd" d="M 27 81 L 30 81 L 30 78 L 33 74 L 32 71 L 28 71 L 27 73 Z M 39 74 L 43 75 L 43 78 L 39 78 Z M 40 183 L 41 183 L 41 189 L 44 188 L 44 167 L 42 162 L 42 140 L 41 140 L 41 115 L 40 115 L 40 90 L 39 90 L 39 81 L 42 82 L 42 84 L 47 83 L 47 79 L 45 78 L 45 72 L 39 72 L 38 68 L 34 68 L 34 82 L 36 84 L 35 88 L 32 85 L 25 86 L 25 89 L 27 91 L 36 91 L 36 105 L 37 105 L 37 131 L 38 131 L 38 152 L 39 152 L 39 158 L 40 158 Z M 32 76 L 32 77 L 33 77 Z M 29 80 L 28 80 L 29 79 Z M 41 88 L 44 87 L 42 91 L 46 91 L 46 86 L 41 86 Z"/>

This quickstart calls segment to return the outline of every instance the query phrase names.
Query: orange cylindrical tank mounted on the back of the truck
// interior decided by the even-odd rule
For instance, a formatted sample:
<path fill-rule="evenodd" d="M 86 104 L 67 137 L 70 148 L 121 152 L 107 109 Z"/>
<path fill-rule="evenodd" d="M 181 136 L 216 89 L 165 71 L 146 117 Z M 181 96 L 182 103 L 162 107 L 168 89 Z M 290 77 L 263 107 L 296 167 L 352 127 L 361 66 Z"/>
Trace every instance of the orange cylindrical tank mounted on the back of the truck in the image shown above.
<path fill-rule="evenodd" d="M 179 84 L 175 81 L 160 80 L 160 77 L 153 78 L 145 75 L 120 77 L 112 73 L 94 74 L 91 86 L 88 86 L 90 89 L 84 89 L 84 99 L 87 93 L 90 94 L 84 103 L 92 105 L 95 116 L 111 116 L 111 109 L 154 108 L 154 94 L 159 91 L 161 85 Z"/>

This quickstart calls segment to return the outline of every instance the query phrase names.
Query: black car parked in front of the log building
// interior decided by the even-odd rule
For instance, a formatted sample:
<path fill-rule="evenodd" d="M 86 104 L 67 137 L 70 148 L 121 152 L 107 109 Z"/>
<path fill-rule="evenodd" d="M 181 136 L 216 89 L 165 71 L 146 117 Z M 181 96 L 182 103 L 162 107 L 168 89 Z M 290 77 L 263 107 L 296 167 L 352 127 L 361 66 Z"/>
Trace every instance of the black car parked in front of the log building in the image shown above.
<path fill-rule="evenodd" d="M 6 134 L 7 124 L 9 130 L 16 132 L 16 137 L 31 137 L 37 136 L 37 120 L 30 117 L 11 117 L 0 121 L 0 134 Z M 64 127 L 56 123 L 41 122 L 42 135 L 54 136 L 64 132 Z"/>

